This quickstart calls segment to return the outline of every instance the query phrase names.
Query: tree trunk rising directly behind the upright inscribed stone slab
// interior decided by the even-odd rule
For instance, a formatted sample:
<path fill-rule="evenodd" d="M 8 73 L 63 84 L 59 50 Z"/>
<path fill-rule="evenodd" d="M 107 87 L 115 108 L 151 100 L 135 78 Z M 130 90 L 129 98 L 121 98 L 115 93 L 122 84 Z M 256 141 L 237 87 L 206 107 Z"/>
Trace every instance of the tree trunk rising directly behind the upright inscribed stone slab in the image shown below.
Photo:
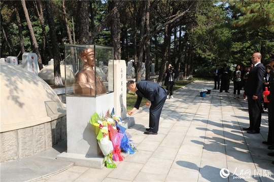
<path fill-rule="evenodd" d="M 110 9 L 114 11 L 113 21 L 111 21 L 111 36 L 114 51 L 114 59 L 121 59 L 121 29 L 120 29 L 120 13 L 117 9 L 119 1 L 110 1 Z"/>

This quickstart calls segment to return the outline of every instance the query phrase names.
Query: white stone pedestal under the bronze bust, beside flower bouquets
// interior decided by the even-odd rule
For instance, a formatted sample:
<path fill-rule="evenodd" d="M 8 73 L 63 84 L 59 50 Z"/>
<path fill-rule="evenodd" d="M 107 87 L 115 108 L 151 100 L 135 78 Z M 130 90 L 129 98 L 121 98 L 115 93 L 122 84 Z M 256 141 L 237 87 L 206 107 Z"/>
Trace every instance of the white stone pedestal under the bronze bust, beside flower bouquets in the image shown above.
<path fill-rule="evenodd" d="M 99 116 L 112 111 L 114 93 L 98 97 L 66 97 L 67 152 L 57 159 L 74 162 L 75 165 L 101 169 L 104 155 L 97 144 L 96 136 L 89 123 L 94 112 Z"/>

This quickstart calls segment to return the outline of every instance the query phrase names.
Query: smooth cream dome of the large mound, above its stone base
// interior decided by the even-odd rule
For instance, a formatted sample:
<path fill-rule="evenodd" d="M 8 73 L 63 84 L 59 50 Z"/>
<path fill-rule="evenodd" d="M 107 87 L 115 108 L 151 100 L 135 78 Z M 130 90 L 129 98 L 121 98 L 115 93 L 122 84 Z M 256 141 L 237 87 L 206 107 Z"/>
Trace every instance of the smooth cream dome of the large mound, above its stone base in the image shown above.
<path fill-rule="evenodd" d="M 54 90 L 39 76 L 0 62 L 1 127 L 10 131 L 55 120 L 66 114 Z"/>

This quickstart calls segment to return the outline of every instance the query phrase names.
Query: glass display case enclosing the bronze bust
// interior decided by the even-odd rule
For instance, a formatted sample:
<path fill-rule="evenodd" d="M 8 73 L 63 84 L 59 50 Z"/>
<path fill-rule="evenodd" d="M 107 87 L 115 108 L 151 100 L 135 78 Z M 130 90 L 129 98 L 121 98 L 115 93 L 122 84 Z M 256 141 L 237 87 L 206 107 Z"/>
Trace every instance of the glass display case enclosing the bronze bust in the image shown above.
<path fill-rule="evenodd" d="M 102 45 L 65 45 L 66 96 L 97 97 L 114 90 L 113 48 Z"/>

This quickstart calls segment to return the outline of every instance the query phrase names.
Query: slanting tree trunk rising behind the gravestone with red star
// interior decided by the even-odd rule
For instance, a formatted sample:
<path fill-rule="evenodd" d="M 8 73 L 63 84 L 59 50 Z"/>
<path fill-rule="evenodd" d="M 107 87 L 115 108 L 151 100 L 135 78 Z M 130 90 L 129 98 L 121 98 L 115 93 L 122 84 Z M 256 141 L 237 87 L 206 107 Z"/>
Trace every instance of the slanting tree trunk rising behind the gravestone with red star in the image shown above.
<path fill-rule="evenodd" d="M 40 55 L 40 52 L 39 52 L 39 47 L 38 47 L 38 43 L 37 43 L 37 40 L 36 40 L 36 37 L 35 37 L 35 33 L 33 31 L 33 28 L 32 28 L 32 25 L 31 25 L 31 22 L 30 22 L 30 19 L 29 19 L 29 16 L 28 16 L 28 11 L 27 11 L 27 8 L 26 8 L 25 0 L 21 0 L 21 4 L 22 4 L 22 7 L 23 7 L 25 17 L 26 17 L 27 27 L 28 27 L 28 30 L 29 30 L 29 33 L 30 33 L 30 37 L 31 37 L 30 39 L 31 39 L 31 42 L 32 42 L 32 45 L 33 45 L 33 50 L 37 54 L 38 66 L 39 66 L 39 69 L 41 70 L 41 69 L 43 69 L 41 55 Z"/>

